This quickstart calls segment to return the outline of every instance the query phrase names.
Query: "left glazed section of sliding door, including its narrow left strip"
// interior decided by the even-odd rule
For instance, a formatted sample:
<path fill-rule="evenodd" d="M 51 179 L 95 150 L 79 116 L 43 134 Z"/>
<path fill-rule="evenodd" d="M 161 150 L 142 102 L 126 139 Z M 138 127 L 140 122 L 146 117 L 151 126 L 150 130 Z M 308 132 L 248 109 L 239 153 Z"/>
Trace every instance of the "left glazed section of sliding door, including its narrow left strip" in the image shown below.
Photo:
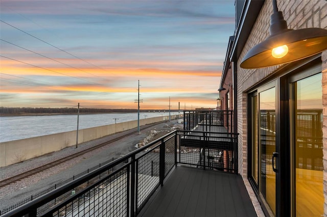
<path fill-rule="evenodd" d="M 276 212 L 276 87 L 272 82 L 250 95 L 251 180 L 268 212 Z"/>

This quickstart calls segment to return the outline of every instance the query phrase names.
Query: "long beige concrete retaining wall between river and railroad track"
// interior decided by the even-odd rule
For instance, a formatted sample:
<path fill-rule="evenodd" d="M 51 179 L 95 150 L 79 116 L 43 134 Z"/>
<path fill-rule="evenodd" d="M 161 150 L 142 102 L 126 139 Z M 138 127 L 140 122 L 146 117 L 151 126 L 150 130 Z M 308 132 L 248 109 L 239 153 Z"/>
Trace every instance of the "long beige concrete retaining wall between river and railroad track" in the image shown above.
<path fill-rule="evenodd" d="M 171 116 L 171 119 L 177 118 L 178 115 Z M 169 116 L 141 119 L 139 120 L 139 125 L 143 126 L 165 120 L 169 120 Z M 80 129 L 78 131 L 78 143 L 99 139 L 106 135 L 133 129 L 135 127 L 137 127 L 137 120 Z M 0 143 L 0 167 L 15 164 L 16 162 L 21 162 L 53 151 L 59 151 L 74 145 L 76 145 L 76 130 L 3 142 Z"/>

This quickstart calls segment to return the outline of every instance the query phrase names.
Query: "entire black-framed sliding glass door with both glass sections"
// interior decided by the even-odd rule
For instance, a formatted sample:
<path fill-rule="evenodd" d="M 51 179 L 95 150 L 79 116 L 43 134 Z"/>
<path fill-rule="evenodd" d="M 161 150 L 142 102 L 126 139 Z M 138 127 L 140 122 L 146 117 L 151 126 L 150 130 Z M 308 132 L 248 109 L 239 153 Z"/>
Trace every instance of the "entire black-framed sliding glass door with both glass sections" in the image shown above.
<path fill-rule="evenodd" d="M 267 216 L 323 216 L 321 60 L 249 93 L 249 181 Z"/>

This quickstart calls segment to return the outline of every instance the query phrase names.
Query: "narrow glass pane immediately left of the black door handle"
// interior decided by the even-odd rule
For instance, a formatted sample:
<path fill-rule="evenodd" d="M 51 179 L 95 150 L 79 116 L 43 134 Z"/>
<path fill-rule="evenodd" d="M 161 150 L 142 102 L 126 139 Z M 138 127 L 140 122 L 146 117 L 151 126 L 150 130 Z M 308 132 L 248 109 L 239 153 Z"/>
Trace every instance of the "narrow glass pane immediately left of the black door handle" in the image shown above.
<path fill-rule="evenodd" d="M 276 90 L 275 87 L 259 93 L 259 133 L 261 156 L 260 192 L 273 214 L 276 207 L 276 174 L 272 154 L 276 151 Z"/>

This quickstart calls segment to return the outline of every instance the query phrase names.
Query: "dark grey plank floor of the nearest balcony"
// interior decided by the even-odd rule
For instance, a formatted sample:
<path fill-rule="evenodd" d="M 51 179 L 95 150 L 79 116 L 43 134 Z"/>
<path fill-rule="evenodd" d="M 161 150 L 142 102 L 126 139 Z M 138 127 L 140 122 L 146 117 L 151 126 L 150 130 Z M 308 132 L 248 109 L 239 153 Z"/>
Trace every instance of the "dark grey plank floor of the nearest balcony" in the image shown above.
<path fill-rule="evenodd" d="M 137 216 L 256 216 L 240 175 L 177 167 Z"/>

